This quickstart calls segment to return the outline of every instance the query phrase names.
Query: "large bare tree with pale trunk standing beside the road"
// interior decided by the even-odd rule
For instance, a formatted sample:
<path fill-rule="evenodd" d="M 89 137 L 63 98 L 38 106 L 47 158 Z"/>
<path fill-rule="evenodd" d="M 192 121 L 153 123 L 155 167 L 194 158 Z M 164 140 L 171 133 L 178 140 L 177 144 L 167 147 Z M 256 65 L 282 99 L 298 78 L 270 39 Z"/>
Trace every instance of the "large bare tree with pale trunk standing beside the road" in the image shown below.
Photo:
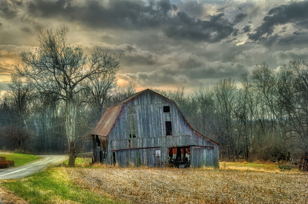
<path fill-rule="evenodd" d="M 81 83 L 92 75 L 111 74 L 120 69 L 120 58 L 115 54 L 96 48 L 88 57 L 81 45 L 76 47 L 67 43 L 67 28 L 39 30 L 35 51 L 20 54 L 23 68 L 13 66 L 33 88 L 44 96 L 56 94 L 65 102 L 65 120 L 69 145 L 69 166 L 75 165 L 76 108 L 83 101 L 76 101 L 75 95 L 83 90 Z"/>

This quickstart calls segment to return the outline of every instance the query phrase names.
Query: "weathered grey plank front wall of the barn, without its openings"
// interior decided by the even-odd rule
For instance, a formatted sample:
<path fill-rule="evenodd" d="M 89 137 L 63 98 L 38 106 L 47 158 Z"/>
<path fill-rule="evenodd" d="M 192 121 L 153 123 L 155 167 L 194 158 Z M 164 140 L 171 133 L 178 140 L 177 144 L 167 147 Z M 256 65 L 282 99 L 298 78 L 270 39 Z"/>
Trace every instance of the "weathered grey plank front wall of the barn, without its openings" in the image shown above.
<path fill-rule="evenodd" d="M 163 111 L 164 106 L 170 107 L 170 114 Z M 165 121 L 170 120 L 172 135 L 166 135 Z M 146 91 L 123 104 L 108 134 L 107 152 L 110 153 L 110 156 L 107 158 L 108 162 L 112 164 L 112 152 L 116 152 L 116 161 L 123 167 L 130 164 L 136 166 L 164 165 L 168 161 L 168 147 L 190 145 L 215 146 L 218 149 L 216 143 L 191 129 L 172 100 L 155 92 Z M 141 149 L 151 147 L 160 148 Z M 161 152 L 158 158 L 153 157 L 156 150 Z M 217 155 L 213 155 L 211 159 L 204 159 L 205 156 L 198 156 L 200 153 Z M 197 163 L 193 166 L 199 166 L 199 164 L 215 166 L 217 163 L 218 151 L 203 153 L 196 150 L 195 154 Z M 197 157 L 202 159 L 197 159 Z"/>

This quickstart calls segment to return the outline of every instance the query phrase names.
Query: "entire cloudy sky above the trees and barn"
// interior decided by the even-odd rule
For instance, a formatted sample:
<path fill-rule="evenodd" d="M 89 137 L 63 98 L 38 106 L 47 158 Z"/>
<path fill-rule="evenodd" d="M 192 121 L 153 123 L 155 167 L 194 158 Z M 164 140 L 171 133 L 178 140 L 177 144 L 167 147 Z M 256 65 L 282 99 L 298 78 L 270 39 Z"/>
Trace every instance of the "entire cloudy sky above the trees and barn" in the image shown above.
<path fill-rule="evenodd" d="M 121 54 L 120 85 L 189 90 L 308 58 L 308 0 L 1 0 L 0 90 L 38 30 Z"/>

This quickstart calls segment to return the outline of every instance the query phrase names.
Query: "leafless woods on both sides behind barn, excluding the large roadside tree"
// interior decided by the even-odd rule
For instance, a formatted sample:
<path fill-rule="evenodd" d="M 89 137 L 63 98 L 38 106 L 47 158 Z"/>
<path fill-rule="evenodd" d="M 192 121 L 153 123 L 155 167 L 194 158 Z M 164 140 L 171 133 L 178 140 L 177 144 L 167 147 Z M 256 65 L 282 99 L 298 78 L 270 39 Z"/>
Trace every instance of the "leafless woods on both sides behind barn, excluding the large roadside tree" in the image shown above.
<path fill-rule="evenodd" d="M 76 153 L 92 150 L 91 131 L 107 107 L 136 92 L 117 85 L 115 73 L 91 78 L 78 94 Z M 266 63 L 240 80 L 228 78 L 192 90 L 154 90 L 176 102 L 188 123 L 221 144 L 225 160 L 288 160 L 308 155 L 308 64 L 290 61 L 278 72 Z M 68 153 L 65 102 L 42 95 L 14 69 L 0 103 L 1 147 L 35 154 Z"/>

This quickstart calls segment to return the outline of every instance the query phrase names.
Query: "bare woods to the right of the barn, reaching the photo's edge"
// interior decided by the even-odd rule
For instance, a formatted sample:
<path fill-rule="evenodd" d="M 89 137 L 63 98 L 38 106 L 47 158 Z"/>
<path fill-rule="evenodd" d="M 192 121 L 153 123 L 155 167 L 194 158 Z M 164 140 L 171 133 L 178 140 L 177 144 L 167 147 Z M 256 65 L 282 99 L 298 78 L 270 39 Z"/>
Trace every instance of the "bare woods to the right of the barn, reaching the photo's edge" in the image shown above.
<path fill-rule="evenodd" d="M 290 160 L 308 155 L 308 61 L 291 60 L 278 71 L 266 63 L 193 93 L 160 91 L 178 104 L 188 123 L 221 144 L 220 157 Z"/>

